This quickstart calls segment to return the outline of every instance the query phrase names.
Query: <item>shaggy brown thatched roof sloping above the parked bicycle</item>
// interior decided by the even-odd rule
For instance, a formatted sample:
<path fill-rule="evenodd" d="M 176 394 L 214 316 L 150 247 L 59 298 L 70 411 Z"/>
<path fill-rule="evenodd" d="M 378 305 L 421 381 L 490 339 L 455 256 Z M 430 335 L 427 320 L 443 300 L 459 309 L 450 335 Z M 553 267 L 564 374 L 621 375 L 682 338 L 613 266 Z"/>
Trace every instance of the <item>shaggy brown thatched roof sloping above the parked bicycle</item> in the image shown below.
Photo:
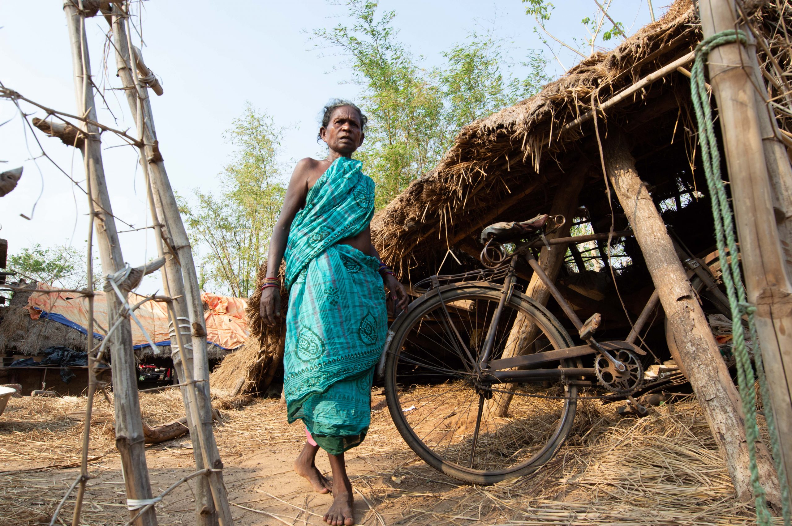
<path fill-rule="evenodd" d="M 700 38 L 690 0 L 677 0 L 664 17 L 613 51 L 594 53 L 530 99 L 463 127 L 436 169 L 413 181 L 375 216 L 372 232 L 383 259 L 406 274 L 426 255 L 439 249 L 442 255 L 447 246 L 472 240 L 492 220 L 523 220 L 546 212 L 543 206 L 558 177 L 585 153 L 584 140 L 591 138 L 593 127 L 588 122 L 559 131 L 591 109 L 592 93 L 604 103 L 692 51 Z M 674 90 L 678 97 L 689 92 L 689 81 L 680 73 L 619 104 L 608 119 L 624 125 L 633 118 L 647 123 L 664 112 L 676 117 L 680 104 L 661 98 Z M 637 115 L 646 110 L 655 115 Z M 687 112 L 683 117 L 689 117 Z M 605 133 L 600 118 L 600 134 Z M 599 162 L 592 156 L 595 160 Z M 514 203 L 518 195 L 522 197 Z"/>

